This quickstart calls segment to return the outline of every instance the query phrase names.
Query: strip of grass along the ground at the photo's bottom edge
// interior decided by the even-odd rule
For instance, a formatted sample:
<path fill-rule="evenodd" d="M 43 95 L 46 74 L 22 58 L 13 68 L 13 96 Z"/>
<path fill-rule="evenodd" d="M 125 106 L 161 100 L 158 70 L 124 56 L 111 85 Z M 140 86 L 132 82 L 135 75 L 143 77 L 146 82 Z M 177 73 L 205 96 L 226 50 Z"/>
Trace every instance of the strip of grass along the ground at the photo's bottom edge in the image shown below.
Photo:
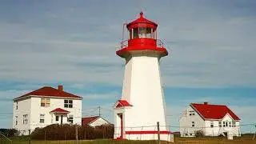
<path fill-rule="evenodd" d="M 234 140 L 227 140 L 226 138 L 219 137 L 203 137 L 203 138 L 180 138 L 174 137 L 174 143 L 183 144 L 256 144 L 256 138 L 252 140 L 253 134 L 242 135 L 242 137 L 234 137 Z M 8 142 L 3 138 L 0 138 L 0 144 L 75 144 L 76 141 L 30 141 L 29 137 L 16 137 L 11 138 L 13 141 Z M 79 140 L 78 144 L 157 144 L 157 141 L 115 141 L 110 139 L 98 139 L 98 140 Z M 167 142 L 161 142 L 162 144 Z"/>

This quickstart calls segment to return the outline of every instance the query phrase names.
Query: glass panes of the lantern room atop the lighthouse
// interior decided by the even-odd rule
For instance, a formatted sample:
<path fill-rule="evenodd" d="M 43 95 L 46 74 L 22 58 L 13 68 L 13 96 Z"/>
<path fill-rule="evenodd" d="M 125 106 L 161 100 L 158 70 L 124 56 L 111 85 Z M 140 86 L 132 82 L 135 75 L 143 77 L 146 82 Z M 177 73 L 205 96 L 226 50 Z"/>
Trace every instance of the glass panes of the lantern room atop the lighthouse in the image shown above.
<path fill-rule="evenodd" d="M 136 27 L 129 30 L 129 39 L 134 38 L 156 38 L 156 30 L 150 27 Z"/>

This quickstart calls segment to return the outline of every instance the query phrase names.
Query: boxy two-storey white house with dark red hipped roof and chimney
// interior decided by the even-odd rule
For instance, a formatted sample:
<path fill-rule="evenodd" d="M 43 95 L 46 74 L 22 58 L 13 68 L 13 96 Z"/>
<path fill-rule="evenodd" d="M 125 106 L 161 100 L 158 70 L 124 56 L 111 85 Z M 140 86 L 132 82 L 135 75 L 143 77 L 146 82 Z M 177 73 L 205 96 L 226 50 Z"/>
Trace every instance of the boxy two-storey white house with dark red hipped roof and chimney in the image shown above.
<path fill-rule="evenodd" d="M 81 118 L 82 97 L 65 92 L 63 86 L 45 86 L 14 98 L 13 128 L 20 134 L 56 123 L 81 125 Z"/>

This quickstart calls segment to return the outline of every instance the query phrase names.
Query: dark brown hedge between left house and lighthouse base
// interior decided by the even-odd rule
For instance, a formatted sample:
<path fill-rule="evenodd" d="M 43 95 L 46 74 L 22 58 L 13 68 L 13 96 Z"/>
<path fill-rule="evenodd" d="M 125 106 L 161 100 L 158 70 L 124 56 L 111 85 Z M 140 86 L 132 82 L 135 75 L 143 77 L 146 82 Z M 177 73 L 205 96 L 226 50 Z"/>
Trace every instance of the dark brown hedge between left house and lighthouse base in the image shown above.
<path fill-rule="evenodd" d="M 44 128 L 36 128 L 32 134 L 31 139 L 37 140 L 71 140 L 75 139 L 75 129 L 77 125 L 50 125 Z M 114 126 L 77 126 L 78 139 L 96 139 L 96 138 L 113 138 Z"/>

